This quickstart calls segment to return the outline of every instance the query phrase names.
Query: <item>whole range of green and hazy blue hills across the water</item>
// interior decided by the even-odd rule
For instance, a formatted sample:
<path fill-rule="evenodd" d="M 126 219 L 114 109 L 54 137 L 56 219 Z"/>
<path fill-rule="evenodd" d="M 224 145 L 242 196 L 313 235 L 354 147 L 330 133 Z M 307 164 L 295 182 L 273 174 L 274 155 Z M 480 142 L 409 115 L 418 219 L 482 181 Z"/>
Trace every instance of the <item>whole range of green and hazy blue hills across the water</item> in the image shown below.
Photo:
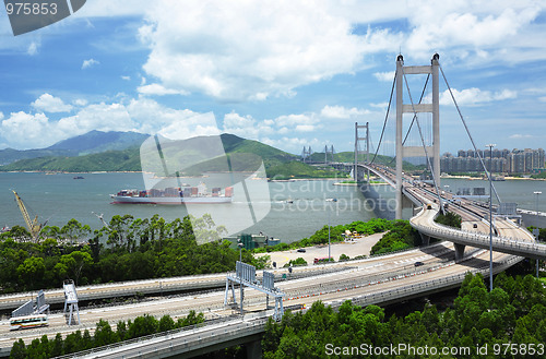
<path fill-rule="evenodd" d="M 226 170 L 225 157 L 218 156 L 223 153 L 227 154 L 233 170 L 257 169 L 261 159 L 270 178 L 319 178 L 340 175 L 331 168 L 317 168 L 304 164 L 299 156 L 258 141 L 246 140 L 228 133 L 224 133 L 219 137 L 223 151 L 217 148 L 217 139 L 215 137 L 194 137 L 180 141 L 161 137 L 162 152 L 158 153 L 157 139 L 152 140 L 153 137 L 147 134 L 91 131 L 58 142 L 47 148 L 2 149 L 0 151 L 0 165 L 3 165 L 0 166 L 0 171 L 141 171 L 141 154 L 147 151 L 151 154 L 150 158 L 152 158 L 153 165 L 157 167 L 155 171 L 162 176 L 165 176 L 164 169 L 173 163 L 188 163 L 188 159 L 191 163 L 192 158 L 206 158 L 206 160 L 194 160 L 193 165 L 185 169 L 187 175 Z M 147 139 L 151 140 L 145 142 Z M 185 156 L 183 160 L 179 158 L 180 153 Z M 324 154 L 314 153 L 310 159 L 313 163 L 321 163 L 324 160 Z M 334 160 L 351 163 L 354 160 L 354 153 L 336 153 Z M 389 166 L 392 163 L 392 157 L 378 156 L 376 163 Z M 415 166 L 404 163 L 404 168 L 411 169 L 408 167 Z M 149 170 L 149 168 L 145 169 Z"/>

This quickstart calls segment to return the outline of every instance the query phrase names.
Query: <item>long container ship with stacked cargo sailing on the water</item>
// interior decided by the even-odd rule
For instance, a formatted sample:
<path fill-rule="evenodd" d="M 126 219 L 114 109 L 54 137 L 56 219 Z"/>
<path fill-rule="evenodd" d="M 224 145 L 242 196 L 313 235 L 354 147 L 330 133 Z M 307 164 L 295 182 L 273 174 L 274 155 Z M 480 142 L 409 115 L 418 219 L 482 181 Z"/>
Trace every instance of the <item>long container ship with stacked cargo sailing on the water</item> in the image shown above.
<path fill-rule="evenodd" d="M 224 193 L 219 187 L 207 191 L 204 183 L 198 187 L 168 187 L 164 190 L 151 189 L 146 191 L 121 190 L 117 194 L 110 194 L 112 204 L 215 204 L 230 203 L 234 195 L 234 188 L 226 187 Z"/>

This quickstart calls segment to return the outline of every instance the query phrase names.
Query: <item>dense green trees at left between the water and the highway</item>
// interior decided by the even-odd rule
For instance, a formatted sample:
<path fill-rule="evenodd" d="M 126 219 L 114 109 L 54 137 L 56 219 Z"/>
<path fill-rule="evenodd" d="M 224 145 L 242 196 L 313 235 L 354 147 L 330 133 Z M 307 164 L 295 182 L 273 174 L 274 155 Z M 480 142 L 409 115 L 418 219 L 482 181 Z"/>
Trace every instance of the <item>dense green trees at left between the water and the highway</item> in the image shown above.
<path fill-rule="evenodd" d="M 218 234 L 222 227 L 207 215 L 171 223 L 157 215 L 114 216 L 109 228 L 94 232 L 72 219 L 62 228 L 46 227 L 40 243 L 25 241 L 29 234 L 15 226 L 0 236 L 0 294 L 58 288 L 67 278 L 85 285 L 233 271 L 239 253 Z M 84 238 L 88 243 L 70 244 Z M 249 252 L 242 255 L 263 267 Z"/>

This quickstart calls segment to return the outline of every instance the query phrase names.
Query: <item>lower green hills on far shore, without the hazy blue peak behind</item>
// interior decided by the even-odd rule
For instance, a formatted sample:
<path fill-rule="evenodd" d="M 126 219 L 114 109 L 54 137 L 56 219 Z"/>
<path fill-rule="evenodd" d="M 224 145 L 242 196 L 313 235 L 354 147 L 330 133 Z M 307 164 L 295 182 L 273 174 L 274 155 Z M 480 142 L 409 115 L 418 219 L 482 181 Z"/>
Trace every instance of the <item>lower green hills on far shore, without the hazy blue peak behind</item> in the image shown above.
<path fill-rule="evenodd" d="M 337 172 L 328 167 L 310 166 L 300 163 L 299 156 L 286 153 L 270 145 L 253 140 L 245 140 L 234 134 L 224 133 L 221 135 L 222 148 L 218 149 L 217 137 L 194 137 L 183 141 L 170 141 L 162 139 L 162 154 L 167 168 L 176 168 L 176 164 L 194 163 L 193 166 L 183 169 L 183 175 L 197 176 L 206 171 L 254 171 L 263 160 L 269 178 L 332 178 L 345 177 L 345 173 Z M 97 154 L 69 156 L 47 156 L 39 158 L 21 159 L 16 163 L 1 166 L 0 171 L 140 171 L 141 151 L 150 153 L 144 159 L 145 170 L 155 169 L 163 172 L 163 165 L 158 161 L 157 147 L 155 142 L 147 142 L 147 147 L 132 147 L 122 151 L 106 151 Z M 147 151 L 147 152 L 146 152 Z M 229 167 L 223 152 L 227 154 Z M 203 161 L 203 158 L 211 158 Z M 324 160 L 324 154 L 314 153 L 311 156 L 313 161 Z M 150 163 L 146 163 L 150 160 Z M 334 155 L 335 161 L 352 163 L 354 155 L 352 152 L 343 152 Z M 376 163 L 389 165 L 392 157 L 378 156 Z M 170 165 L 170 167 L 169 167 Z M 392 164 L 391 164 L 392 166 Z M 404 163 L 404 168 L 411 170 L 415 166 Z M 174 176 L 175 173 L 168 173 Z"/>

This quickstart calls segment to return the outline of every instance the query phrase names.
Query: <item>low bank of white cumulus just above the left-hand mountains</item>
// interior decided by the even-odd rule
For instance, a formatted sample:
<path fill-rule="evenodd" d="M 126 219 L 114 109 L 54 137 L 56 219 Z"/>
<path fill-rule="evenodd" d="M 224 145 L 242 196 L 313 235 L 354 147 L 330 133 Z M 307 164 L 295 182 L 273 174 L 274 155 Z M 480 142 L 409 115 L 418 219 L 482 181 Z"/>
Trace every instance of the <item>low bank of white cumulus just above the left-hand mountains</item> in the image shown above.
<path fill-rule="evenodd" d="M 47 107 L 51 110 L 51 101 L 44 100 L 49 96 L 43 95 L 40 98 L 41 100 L 38 98 L 33 106 Z M 87 105 L 83 99 L 76 99 L 74 103 L 78 103 L 78 111 L 59 120 L 50 119 L 43 112 L 33 115 L 20 111 L 11 113 L 5 119 L 0 117 L 0 133 L 10 146 L 19 149 L 46 147 L 92 130 L 161 132 L 174 139 L 182 136 L 185 132 L 186 135 L 218 133 L 217 130 L 212 130 L 212 128 L 217 129 L 215 121 L 207 122 L 213 123 L 212 125 L 204 124 L 203 119 L 206 119 L 206 116 L 210 119 L 210 113 L 200 117 L 201 113 L 171 109 L 149 98 L 131 99 L 128 104 Z M 56 104 L 60 105 L 62 104 Z"/>

